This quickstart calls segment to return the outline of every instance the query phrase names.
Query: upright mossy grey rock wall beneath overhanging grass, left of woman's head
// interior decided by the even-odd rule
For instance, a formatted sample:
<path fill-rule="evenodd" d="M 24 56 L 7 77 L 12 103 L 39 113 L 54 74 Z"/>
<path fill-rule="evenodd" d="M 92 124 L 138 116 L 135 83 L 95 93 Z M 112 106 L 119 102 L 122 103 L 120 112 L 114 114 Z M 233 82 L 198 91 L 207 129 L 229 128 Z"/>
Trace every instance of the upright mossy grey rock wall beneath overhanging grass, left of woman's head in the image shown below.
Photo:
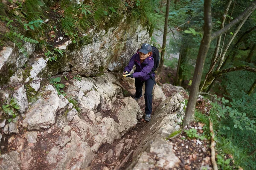
<path fill-rule="evenodd" d="M 121 29 L 125 24 L 120 23 L 118 27 L 109 28 L 107 32 L 91 31 L 92 43 L 68 52 L 73 56 L 70 60 L 73 66 L 71 70 L 89 75 L 102 72 L 104 68 L 119 71 L 140 45 L 150 42 L 146 28 L 138 26 L 134 34 L 133 30 Z"/>

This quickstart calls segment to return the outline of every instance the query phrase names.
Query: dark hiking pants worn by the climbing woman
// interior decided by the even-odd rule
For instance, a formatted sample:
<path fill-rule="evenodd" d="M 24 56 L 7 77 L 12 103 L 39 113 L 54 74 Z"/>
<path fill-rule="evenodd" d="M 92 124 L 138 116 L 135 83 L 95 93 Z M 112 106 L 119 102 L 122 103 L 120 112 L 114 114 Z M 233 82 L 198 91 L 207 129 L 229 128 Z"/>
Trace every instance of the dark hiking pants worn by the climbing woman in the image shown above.
<path fill-rule="evenodd" d="M 151 114 L 152 112 L 152 90 L 154 87 L 154 77 L 147 79 L 146 81 L 141 81 L 140 78 L 135 78 L 135 89 L 136 89 L 136 98 L 142 96 L 142 87 L 145 82 L 145 113 Z"/>

